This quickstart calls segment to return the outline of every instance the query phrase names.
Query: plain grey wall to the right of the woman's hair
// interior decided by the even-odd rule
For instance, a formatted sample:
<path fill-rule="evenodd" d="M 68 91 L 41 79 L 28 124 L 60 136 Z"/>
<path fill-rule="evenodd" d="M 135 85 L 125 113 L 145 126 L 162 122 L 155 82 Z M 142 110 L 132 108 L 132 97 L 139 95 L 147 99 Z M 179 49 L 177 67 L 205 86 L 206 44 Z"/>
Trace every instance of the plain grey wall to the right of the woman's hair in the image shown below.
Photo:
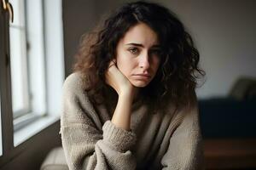
<path fill-rule="evenodd" d="M 241 76 L 256 77 L 256 1 L 160 0 L 188 27 L 207 72 L 200 98 L 224 96 Z"/>

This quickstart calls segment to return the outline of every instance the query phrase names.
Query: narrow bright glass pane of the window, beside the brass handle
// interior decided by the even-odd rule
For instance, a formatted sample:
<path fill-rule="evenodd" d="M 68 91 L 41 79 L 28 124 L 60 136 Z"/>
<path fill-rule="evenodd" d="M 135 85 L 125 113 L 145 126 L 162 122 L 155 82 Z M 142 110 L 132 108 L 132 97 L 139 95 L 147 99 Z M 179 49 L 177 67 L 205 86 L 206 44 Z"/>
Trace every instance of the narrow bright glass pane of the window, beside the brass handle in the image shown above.
<path fill-rule="evenodd" d="M 24 0 L 10 1 L 15 8 L 15 21 L 9 26 L 12 106 L 14 118 L 30 111 L 26 55 Z"/>

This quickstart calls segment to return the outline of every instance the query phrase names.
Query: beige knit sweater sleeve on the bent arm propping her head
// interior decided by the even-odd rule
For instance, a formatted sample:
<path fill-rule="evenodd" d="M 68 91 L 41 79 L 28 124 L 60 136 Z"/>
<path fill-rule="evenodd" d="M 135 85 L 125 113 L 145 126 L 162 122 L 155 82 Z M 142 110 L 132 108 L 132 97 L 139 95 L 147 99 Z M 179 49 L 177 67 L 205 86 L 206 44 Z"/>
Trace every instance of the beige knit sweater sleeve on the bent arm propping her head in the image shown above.
<path fill-rule="evenodd" d="M 135 169 L 131 147 L 136 134 L 109 120 L 99 124 L 78 73 L 73 73 L 63 85 L 61 112 L 61 142 L 69 169 Z"/>

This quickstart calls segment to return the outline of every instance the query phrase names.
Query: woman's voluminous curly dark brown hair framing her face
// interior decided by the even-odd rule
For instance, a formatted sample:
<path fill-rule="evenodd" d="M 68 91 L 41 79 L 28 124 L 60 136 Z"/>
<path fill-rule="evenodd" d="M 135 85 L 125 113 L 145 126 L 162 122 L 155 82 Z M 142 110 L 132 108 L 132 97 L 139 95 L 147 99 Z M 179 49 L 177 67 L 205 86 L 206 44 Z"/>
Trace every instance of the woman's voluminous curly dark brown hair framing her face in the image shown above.
<path fill-rule="evenodd" d="M 157 3 L 126 3 L 104 20 L 102 26 L 82 37 L 74 71 L 84 75 L 86 90 L 93 102 L 102 102 L 105 72 L 116 56 L 116 47 L 125 32 L 144 23 L 156 32 L 161 48 L 159 69 L 142 95 L 161 103 L 172 99 L 176 105 L 187 105 L 195 97 L 197 79 L 205 72 L 199 68 L 200 55 L 194 42 L 176 14 Z M 194 97 L 193 97 L 194 96 Z"/>

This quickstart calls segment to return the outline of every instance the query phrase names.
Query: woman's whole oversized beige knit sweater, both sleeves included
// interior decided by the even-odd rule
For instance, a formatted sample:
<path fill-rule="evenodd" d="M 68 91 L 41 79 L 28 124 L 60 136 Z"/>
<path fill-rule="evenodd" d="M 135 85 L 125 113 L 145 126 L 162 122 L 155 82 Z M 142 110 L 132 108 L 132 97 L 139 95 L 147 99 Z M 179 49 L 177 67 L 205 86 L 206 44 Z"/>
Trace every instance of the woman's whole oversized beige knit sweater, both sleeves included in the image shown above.
<path fill-rule="evenodd" d="M 132 105 L 131 131 L 115 127 L 104 105 L 92 105 L 79 73 L 63 85 L 61 140 L 69 169 L 202 169 L 198 111 L 152 113 Z"/>

